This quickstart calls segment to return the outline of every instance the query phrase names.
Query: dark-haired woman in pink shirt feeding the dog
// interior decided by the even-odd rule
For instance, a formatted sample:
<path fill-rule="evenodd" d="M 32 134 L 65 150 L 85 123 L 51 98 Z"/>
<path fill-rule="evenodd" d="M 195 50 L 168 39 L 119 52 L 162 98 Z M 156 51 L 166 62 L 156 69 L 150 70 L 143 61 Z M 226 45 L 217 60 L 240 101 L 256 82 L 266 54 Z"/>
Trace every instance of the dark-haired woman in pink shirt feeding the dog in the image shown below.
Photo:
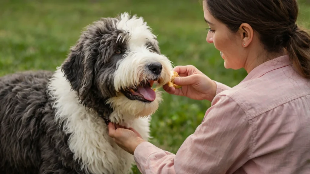
<path fill-rule="evenodd" d="M 226 68 L 246 78 L 230 88 L 193 66 L 177 66 L 182 89 L 169 94 L 211 101 L 202 123 L 176 154 L 132 128 L 109 134 L 142 173 L 309 173 L 310 36 L 295 24 L 295 0 L 204 0 L 207 42 Z"/>

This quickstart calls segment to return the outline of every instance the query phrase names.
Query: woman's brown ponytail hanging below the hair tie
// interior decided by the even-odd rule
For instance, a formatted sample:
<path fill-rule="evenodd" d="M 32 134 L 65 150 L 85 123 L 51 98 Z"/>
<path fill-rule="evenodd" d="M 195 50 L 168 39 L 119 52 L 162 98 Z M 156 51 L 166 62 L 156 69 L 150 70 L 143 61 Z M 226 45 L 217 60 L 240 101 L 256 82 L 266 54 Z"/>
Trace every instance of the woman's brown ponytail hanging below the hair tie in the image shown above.
<path fill-rule="evenodd" d="M 299 75 L 310 79 L 310 35 L 295 25 L 286 50 Z"/>

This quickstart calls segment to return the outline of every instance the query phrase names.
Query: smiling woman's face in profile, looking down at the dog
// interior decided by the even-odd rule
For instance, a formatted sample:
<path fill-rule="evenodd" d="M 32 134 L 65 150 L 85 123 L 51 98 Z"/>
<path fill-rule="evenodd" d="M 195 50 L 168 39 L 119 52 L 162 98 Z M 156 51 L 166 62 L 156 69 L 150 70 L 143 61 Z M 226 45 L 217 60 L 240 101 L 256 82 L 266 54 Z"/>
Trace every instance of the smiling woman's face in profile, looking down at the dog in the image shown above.
<path fill-rule="evenodd" d="M 232 69 L 245 67 L 247 54 L 241 35 L 238 32 L 232 33 L 225 24 L 216 20 L 208 11 L 206 1 L 203 2 L 203 11 L 210 28 L 206 40 L 221 51 L 224 67 Z"/>

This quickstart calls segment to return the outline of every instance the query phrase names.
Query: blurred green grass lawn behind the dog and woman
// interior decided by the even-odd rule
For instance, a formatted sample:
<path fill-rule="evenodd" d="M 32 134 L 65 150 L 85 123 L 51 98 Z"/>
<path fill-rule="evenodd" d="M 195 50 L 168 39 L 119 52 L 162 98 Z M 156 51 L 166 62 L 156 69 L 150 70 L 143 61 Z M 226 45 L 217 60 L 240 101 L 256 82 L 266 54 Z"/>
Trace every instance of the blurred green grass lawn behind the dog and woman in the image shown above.
<path fill-rule="evenodd" d="M 299 24 L 309 28 L 310 6 L 300 1 Z M 81 30 L 100 17 L 124 11 L 143 16 L 163 54 L 175 65 L 192 64 L 211 79 L 237 85 L 244 70 L 225 69 L 213 44 L 206 42 L 207 25 L 198 0 L 21 1 L 0 2 L 0 76 L 23 70 L 54 71 Z M 164 102 L 151 122 L 150 140 L 176 153 L 201 123 L 210 102 L 164 94 Z M 139 173 L 136 166 L 134 173 Z"/>

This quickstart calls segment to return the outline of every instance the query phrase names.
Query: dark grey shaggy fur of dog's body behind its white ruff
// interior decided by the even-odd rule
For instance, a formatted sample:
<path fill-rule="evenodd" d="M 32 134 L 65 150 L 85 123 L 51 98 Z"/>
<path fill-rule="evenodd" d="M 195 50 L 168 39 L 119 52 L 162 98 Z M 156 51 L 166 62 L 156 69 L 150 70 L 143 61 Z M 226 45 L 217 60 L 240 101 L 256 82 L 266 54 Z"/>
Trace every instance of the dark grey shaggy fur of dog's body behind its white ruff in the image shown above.
<path fill-rule="evenodd" d="M 55 123 L 47 94 L 52 72 L 0 78 L 0 173 L 84 173 Z"/>

